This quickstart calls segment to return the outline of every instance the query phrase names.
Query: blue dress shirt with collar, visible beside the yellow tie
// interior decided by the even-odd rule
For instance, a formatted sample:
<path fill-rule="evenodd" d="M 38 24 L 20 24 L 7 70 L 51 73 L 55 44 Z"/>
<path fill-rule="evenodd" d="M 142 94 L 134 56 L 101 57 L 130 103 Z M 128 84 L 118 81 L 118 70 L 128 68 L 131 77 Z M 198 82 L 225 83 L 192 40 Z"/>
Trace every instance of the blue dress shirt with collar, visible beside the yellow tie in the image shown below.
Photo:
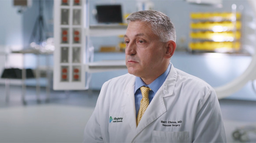
<path fill-rule="evenodd" d="M 160 75 L 157 79 L 155 79 L 151 84 L 147 85 L 140 77 L 136 77 L 135 79 L 135 89 L 134 89 L 134 95 L 135 95 L 135 109 L 136 109 L 136 118 L 137 114 L 139 112 L 140 107 L 140 100 L 142 99 L 142 94 L 140 91 L 141 86 L 146 86 L 151 89 L 149 92 L 148 98 L 149 103 L 153 99 L 155 93 L 158 91 L 158 89 L 162 86 L 162 84 L 165 82 L 167 75 L 169 74 L 169 71 L 171 69 L 171 64 L 169 64 L 168 68 L 166 69 L 166 72 L 164 72 L 162 75 Z"/>

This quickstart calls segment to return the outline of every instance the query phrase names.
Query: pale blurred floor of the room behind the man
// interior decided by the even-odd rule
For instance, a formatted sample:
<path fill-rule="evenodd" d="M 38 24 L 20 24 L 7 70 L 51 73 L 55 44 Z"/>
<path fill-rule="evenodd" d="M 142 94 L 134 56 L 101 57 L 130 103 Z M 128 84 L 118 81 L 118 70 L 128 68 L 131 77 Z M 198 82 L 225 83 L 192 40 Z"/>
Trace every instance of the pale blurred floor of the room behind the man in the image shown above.
<path fill-rule="evenodd" d="M 82 142 L 83 129 L 94 110 L 99 91 L 51 91 L 50 100 L 46 102 L 45 89 L 41 88 L 41 102 L 38 102 L 35 88 L 27 87 L 24 105 L 21 87 L 11 86 L 10 89 L 10 100 L 6 102 L 5 88 L 0 85 L 0 143 Z M 256 101 L 219 102 L 227 141 L 239 143 L 232 134 L 236 129 L 243 129 L 240 132 L 251 132 L 241 139 L 256 143 Z"/>

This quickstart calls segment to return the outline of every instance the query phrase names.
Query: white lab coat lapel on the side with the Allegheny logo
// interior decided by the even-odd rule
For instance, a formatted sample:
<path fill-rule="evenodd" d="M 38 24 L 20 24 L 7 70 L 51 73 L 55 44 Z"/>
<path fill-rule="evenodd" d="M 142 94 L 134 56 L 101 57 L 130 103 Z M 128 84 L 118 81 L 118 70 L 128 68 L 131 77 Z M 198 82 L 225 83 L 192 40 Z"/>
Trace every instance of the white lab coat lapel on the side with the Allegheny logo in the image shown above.
<path fill-rule="evenodd" d="M 124 100 L 123 100 L 123 110 L 132 130 L 136 130 L 136 110 L 135 110 L 135 97 L 134 97 L 134 88 L 135 88 L 135 78 L 126 85 L 124 90 Z"/>

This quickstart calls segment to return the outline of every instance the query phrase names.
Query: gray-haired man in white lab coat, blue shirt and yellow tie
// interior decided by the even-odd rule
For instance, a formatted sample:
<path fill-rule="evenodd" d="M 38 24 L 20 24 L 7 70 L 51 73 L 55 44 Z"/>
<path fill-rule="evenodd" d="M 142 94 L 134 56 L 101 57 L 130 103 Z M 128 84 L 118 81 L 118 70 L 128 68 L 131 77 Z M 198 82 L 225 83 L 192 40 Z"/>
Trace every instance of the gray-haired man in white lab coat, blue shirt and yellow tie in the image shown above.
<path fill-rule="evenodd" d="M 170 19 L 158 11 L 138 11 L 127 21 L 129 74 L 102 86 L 84 142 L 226 142 L 214 89 L 170 63 L 176 49 Z"/>

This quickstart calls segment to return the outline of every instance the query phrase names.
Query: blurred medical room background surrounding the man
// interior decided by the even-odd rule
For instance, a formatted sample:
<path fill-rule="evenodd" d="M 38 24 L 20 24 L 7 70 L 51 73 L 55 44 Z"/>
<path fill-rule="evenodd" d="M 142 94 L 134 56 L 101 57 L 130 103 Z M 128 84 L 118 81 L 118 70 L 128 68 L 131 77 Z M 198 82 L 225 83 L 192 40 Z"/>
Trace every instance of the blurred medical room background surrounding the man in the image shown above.
<path fill-rule="evenodd" d="M 0 0 L 0 143 L 82 142 L 102 84 L 128 73 L 140 10 L 175 25 L 171 62 L 216 89 L 227 141 L 255 143 L 253 0 Z"/>

